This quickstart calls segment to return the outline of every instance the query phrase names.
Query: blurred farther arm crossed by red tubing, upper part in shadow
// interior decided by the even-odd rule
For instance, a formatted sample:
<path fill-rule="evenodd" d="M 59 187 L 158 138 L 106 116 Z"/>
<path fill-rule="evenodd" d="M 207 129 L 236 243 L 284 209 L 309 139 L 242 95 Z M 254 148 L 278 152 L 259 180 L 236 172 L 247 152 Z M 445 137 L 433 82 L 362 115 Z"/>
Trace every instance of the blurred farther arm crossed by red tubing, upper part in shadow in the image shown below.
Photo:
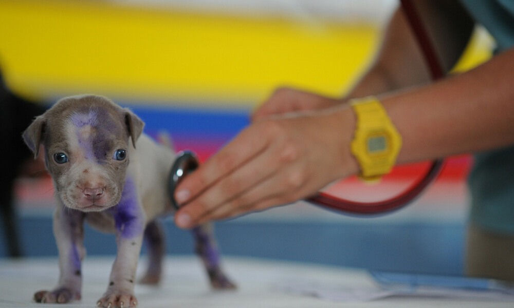
<path fill-rule="evenodd" d="M 418 0 L 413 4 L 441 69 L 449 72 L 467 46 L 473 32 L 473 20 L 457 1 Z M 400 7 L 384 32 L 376 59 L 346 97 L 376 95 L 430 81 L 424 55 L 405 12 Z"/>

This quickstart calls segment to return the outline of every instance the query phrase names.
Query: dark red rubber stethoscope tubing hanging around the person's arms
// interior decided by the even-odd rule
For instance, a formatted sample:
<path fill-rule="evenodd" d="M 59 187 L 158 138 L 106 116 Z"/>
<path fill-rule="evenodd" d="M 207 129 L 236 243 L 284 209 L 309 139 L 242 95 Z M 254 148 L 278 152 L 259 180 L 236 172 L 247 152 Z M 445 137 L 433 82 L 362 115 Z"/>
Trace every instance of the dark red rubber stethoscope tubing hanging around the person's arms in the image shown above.
<path fill-rule="evenodd" d="M 416 8 L 412 4 L 412 1 L 400 0 L 400 2 L 402 9 L 405 12 L 405 15 L 407 16 L 407 20 L 409 21 L 410 26 L 414 31 L 416 40 L 421 48 L 421 51 L 423 52 L 425 62 L 427 63 L 428 68 L 430 69 L 432 79 L 435 81 L 443 78 L 443 67 L 437 58 L 433 45 L 431 44 L 427 32 L 425 31 L 425 28 L 421 23 L 419 15 L 416 12 Z M 418 180 L 406 191 L 402 192 L 402 194 L 395 196 L 391 199 L 377 202 L 357 202 L 329 195 L 325 192 L 319 192 L 318 195 L 310 197 L 306 199 L 306 201 L 333 210 L 342 211 L 346 214 L 385 214 L 390 211 L 399 209 L 403 206 L 406 206 L 414 199 L 416 199 L 416 197 L 418 197 L 421 194 L 421 192 L 423 192 L 425 188 L 427 188 L 428 185 L 435 180 L 440 170 L 443 168 L 443 165 L 443 159 L 434 160 L 432 162 L 430 169 L 427 171 L 427 174 L 423 178 Z"/>

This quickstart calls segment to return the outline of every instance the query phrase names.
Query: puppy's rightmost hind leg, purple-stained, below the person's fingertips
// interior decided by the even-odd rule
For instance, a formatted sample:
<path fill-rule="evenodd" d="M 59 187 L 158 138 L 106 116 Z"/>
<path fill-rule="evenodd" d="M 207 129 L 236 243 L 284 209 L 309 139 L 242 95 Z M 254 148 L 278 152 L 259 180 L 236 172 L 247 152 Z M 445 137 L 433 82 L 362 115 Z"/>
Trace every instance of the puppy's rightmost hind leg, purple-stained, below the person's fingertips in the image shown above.
<path fill-rule="evenodd" d="M 206 223 L 195 227 L 192 231 L 195 239 L 195 252 L 204 262 L 211 286 L 216 289 L 235 288 L 235 284 L 227 278 L 221 268 L 212 225 Z"/>

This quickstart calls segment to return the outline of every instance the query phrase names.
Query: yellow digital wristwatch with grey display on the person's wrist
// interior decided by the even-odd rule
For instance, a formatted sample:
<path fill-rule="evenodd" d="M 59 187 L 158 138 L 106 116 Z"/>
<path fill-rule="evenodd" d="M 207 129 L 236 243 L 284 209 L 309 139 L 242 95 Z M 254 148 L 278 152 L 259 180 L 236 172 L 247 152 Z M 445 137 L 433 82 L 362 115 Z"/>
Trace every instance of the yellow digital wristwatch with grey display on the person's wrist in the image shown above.
<path fill-rule="evenodd" d="M 360 177 L 379 180 L 393 168 L 401 148 L 401 136 L 386 109 L 375 97 L 350 102 L 357 117 L 351 151 L 360 165 Z"/>

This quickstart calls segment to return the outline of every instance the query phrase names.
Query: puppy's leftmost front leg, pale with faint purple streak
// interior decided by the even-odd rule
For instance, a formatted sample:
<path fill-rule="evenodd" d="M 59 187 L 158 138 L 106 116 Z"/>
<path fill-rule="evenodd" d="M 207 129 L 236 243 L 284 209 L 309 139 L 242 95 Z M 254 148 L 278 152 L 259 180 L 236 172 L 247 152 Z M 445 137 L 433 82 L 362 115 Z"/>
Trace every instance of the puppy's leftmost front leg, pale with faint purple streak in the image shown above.
<path fill-rule="evenodd" d="M 34 300 L 41 303 L 67 303 L 81 298 L 81 261 L 85 257 L 84 213 L 61 202 L 53 213 L 53 233 L 59 249 L 59 282 L 53 291 L 39 291 Z"/>

